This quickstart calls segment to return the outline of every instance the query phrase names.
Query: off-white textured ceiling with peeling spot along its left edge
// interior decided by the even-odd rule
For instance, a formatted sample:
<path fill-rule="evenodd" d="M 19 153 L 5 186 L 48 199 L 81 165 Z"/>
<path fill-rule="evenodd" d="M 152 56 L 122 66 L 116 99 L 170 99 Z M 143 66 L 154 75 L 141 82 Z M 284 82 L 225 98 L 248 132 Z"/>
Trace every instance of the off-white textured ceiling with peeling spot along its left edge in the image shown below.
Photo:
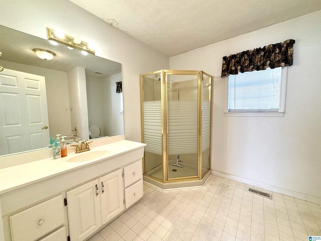
<path fill-rule="evenodd" d="M 321 10 L 321 0 L 70 0 L 174 56 Z"/>

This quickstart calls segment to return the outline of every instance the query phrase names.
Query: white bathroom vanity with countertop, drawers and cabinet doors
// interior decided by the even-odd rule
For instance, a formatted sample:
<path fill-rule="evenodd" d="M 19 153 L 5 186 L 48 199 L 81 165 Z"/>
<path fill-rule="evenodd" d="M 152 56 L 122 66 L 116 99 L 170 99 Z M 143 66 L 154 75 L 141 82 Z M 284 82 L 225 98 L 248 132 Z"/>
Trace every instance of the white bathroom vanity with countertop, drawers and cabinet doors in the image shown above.
<path fill-rule="evenodd" d="M 144 146 L 119 135 L 65 158 L 15 155 L 20 165 L 0 169 L 0 240 L 87 240 L 142 197 Z"/>

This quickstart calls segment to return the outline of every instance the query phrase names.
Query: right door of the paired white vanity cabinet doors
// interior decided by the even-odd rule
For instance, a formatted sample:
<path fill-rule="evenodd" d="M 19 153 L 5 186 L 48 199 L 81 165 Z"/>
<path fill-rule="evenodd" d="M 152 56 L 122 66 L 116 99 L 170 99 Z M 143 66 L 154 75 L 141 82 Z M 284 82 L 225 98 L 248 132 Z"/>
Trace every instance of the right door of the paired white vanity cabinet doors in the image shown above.
<path fill-rule="evenodd" d="M 99 178 L 102 225 L 124 210 L 121 169 Z"/>

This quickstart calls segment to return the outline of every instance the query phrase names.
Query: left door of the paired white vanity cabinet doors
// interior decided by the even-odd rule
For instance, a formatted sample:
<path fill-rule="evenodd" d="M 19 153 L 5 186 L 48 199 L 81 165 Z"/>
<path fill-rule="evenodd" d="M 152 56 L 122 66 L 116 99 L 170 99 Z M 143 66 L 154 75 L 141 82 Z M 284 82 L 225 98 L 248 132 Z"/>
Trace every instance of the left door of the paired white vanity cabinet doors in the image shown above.
<path fill-rule="evenodd" d="M 101 226 L 98 179 L 67 192 L 70 238 L 84 240 Z"/>

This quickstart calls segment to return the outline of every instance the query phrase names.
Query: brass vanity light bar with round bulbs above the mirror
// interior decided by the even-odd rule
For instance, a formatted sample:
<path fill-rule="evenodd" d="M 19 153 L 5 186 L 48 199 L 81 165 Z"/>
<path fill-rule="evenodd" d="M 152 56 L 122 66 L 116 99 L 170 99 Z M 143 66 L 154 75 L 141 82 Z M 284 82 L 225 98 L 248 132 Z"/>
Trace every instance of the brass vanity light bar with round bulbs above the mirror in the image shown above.
<path fill-rule="evenodd" d="M 60 30 L 55 31 L 53 29 L 47 28 L 47 39 L 67 45 L 69 49 L 75 48 L 95 55 L 95 49 L 92 45 L 82 41 L 79 37 L 71 37 L 69 35 L 66 35 Z"/>

